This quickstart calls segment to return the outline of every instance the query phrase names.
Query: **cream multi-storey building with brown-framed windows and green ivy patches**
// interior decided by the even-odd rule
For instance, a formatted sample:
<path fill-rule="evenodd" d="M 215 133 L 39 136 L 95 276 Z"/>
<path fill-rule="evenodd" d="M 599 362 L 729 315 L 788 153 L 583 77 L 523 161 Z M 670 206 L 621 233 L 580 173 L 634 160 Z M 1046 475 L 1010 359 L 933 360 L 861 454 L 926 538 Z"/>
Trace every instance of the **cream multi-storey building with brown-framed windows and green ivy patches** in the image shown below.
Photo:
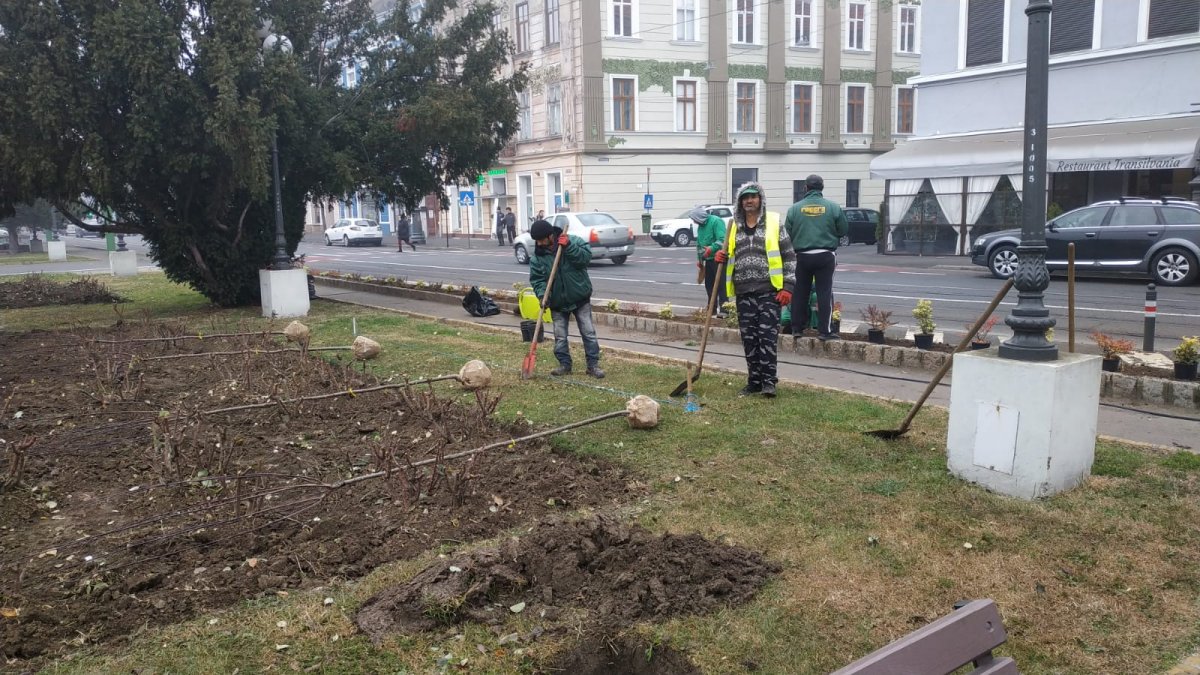
<path fill-rule="evenodd" d="M 448 186 L 454 232 L 512 208 L 604 210 L 643 233 L 728 202 L 746 180 L 769 209 L 803 193 L 877 208 L 871 159 L 914 132 L 923 6 L 902 0 L 502 0 L 528 64 L 520 132 L 476 184 Z M 647 198 L 647 196 L 650 198 Z M 466 199 L 463 199 L 466 202 Z M 647 205 L 649 208 L 647 208 Z"/>

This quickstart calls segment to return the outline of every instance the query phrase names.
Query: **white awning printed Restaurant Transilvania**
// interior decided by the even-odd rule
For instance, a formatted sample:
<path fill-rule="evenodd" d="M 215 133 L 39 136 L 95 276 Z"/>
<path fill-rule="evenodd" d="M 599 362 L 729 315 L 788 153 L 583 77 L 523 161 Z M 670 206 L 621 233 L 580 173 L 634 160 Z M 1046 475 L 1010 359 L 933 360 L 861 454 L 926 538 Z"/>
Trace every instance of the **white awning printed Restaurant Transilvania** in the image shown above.
<path fill-rule="evenodd" d="M 1022 131 L 917 138 L 871 161 L 871 178 L 1020 174 Z M 1048 131 L 1046 171 L 1196 166 L 1200 115 L 1061 126 Z"/>

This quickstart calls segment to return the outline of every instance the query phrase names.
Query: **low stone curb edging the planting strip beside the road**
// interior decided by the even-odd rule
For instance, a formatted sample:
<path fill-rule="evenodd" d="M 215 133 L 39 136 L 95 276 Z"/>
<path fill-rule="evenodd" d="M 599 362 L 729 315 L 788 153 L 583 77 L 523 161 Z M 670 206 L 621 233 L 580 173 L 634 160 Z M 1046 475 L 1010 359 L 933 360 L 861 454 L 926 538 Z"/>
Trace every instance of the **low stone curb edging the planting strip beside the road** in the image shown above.
<path fill-rule="evenodd" d="M 414 300 L 430 300 L 443 304 L 456 304 L 460 300 L 456 295 L 440 291 L 401 288 L 397 286 L 384 286 L 379 283 L 325 276 L 318 276 L 316 277 L 316 281 L 335 288 L 370 291 L 372 293 L 379 293 L 380 295 L 412 298 Z M 494 300 L 502 311 L 510 313 L 516 311 L 516 303 L 499 299 Z M 593 305 L 593 309 L 596 310 L 596 307 L 600 306 L 601 305 Z M 696 323 L 612 313 L 604 310 L 593 311 L 592 316 L 593 321 L 610 328 L 650 333 L 684 340 L 698 341 L 701 339 L 701 333 L 703 333 L 704 329 L 703 325 Z M 472 323 L 472 325 L 479 324 Z M 793 348 L 793 345 L 788 344 L 790 340 L 787 338 L 788 336 L 786 335 L 780 336 L 780 351 L 794 351 L 800 356 L 812 358 L 862 362 L 892 368 L 936 371 L 942 368 L 946 359 L 952 357 L 949 352 L 934 352 L 918 350 L 916 347 L 875 345 L 871 342 L 859 342 L 857 340 L 833 340 L 823 342 L 816 338 L 800 338 L 794 342 Z M 742 338 L 737 329 L 722 325 L 710 327 L 709 340 L 728 344 L 742 342 Z M 1133 404 L 1152 404 L 1200 411 L 1200 382 L 1183 382 L 1180 380 L 1162 377 L 1132 376 L 1122 375 L 1120 372 L 1102 372 L 1100 398 Z"/>

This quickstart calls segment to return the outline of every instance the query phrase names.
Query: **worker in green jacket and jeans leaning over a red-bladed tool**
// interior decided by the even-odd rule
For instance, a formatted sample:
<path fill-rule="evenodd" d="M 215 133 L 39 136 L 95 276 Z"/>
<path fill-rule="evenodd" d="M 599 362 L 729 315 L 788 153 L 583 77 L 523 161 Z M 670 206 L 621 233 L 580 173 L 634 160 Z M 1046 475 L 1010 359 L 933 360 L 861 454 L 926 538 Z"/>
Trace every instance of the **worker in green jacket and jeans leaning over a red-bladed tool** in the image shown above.
<path fill-rule="evenodd" d="M 536 244 L 534 255 L 529 258 L 529 285 L 539 298 L 546 293 L 546 281 L 550 279 L 550 268 L 554 264 L 554 255 L 560 246 L 563 247 L 563 257 L 554 274 L 554 285 L 546 300 L 554 322 L 554 358 L 558 359 L 558 368 L 550 374 L 558 376 L 571 374 L 571 345 L 568 335 L 574 316 L 580 338 L 583 339 L 587 372 L 595 378 L 604 377 L 604 371 L 600 370 L 600 340 L 592 322 L 592 277 L 588 276 L 592 246 L 574 234 L 564 234 L 562 228 L 545 220 L 534 221 L 529 226 L 529 235 Z"/>

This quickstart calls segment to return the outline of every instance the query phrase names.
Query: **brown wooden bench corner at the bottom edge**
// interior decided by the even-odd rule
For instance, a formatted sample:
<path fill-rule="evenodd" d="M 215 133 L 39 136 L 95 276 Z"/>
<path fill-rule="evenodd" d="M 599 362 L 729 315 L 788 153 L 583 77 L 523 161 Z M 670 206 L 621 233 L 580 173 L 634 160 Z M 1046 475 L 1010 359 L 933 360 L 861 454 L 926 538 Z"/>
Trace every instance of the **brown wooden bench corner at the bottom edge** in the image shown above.
<path fill-rule="evenodd" d="M 991 656 L 1007 638 L 996 603 L 971 601 L 834 675 L 947 675 L 968 663 L 970 675 L 1016 675 L 1012 658 Z"/>

